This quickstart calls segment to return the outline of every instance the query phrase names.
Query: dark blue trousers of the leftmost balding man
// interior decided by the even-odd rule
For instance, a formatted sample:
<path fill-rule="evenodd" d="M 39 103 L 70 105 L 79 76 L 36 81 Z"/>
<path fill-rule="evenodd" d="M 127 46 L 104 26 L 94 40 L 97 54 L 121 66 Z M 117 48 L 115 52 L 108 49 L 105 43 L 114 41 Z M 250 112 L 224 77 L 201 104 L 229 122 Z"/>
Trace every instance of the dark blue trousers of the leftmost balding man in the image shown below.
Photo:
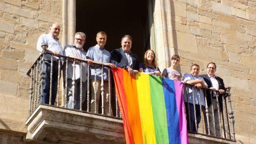
<path fill-rule="evenodd" d="M 45 61 L 45 84 L 43 86 L 43 104 L 49 104 L 50 96 L 50 80 L 51 80 L 51 61 Z M 51 92 L 51 105 L 54 105 L 56 94 L 57 94 L 57 84 L 58 84 L 58 62 L 53 61 L 52 70 L 52 92 Z M 41 98 L 39 98 L 41 99 Z"/>

